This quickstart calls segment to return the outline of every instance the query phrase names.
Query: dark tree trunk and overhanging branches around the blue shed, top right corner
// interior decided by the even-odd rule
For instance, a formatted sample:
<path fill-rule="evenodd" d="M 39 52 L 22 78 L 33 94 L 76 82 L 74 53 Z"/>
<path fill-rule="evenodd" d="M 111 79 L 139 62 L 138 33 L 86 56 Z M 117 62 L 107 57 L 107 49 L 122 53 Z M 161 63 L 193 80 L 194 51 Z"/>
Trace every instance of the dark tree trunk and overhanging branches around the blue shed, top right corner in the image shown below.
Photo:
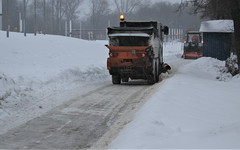
<path fill-rule="evenodd" d="M 239 0 L 185 0 L 180 8 L 192 6 L 193 13 L 201 13 L 210 19 L 232 19 L 234 22 L 234 43 L 240 72 L 240 1 Z"/>

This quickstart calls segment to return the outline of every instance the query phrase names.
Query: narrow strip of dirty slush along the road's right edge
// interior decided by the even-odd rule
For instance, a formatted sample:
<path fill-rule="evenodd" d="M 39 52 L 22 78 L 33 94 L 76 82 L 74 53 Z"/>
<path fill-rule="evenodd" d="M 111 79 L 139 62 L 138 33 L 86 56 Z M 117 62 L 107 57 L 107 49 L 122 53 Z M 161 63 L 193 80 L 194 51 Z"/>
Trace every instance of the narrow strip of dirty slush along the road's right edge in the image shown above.
<path fill-rule="evenodd" d="M 134 119 L 134 115 L 136 112 L 141 108 L 141 106 L 157 91 L 161 88 L 162 85 L 165 84 L 168 78 L 174 76 L 178 69 L 188 63 L 191 63 L 193 60 L 186 60 L 186 59 L 174 59 L 170 60 L 169 65 L 171 66 L 171 71 L 168 73 L 162 74 L 160 76 L 160 82 L 154 84 L 153 86 L 149 87 L 149 89 L 145 90 L 142 95 L 136 100 L 136 105 L 134 109 L 126 108 L 125 112 L 123 112 L 122 116 L 118 118 L 118 120 L 111 126 L 108 132 L 106 132 L 101 139 L 97 143 L 95 143 L 91 149 L 107 149 L 109 144 L 117 137 L 119 132 Z M 137 93 L 136 93 L 137 94 Z M 132 97 L 137 96 L 135 94 Z M 134 102 L 133 102 L 134 103 Z"/>

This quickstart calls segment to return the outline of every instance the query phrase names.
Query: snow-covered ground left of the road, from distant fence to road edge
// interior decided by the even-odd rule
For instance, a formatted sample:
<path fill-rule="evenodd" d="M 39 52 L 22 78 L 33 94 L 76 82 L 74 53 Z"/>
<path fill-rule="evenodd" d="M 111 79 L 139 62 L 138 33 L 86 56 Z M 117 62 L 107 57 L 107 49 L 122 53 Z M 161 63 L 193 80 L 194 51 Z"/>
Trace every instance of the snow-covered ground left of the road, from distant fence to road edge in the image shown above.
<path fill-rule="evenodd" d="M 3 31 L 0 39 L 0 133 L 71 99 L 77 87 L 110 80 L 107 41 L 12 32 L 6 38 Z"/>

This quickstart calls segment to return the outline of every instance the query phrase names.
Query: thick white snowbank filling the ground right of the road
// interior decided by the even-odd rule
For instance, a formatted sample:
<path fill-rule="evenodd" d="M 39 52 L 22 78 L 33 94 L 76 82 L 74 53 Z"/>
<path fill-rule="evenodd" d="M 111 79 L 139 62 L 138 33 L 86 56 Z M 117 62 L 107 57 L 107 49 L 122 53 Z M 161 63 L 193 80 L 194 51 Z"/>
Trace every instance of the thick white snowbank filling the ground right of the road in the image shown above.
<path fill-rule="evenodd" d="M 224 66 L 200 58 L 180 67 L 109 148 L 239 149 L 240 76 L 219 81 Z"/>

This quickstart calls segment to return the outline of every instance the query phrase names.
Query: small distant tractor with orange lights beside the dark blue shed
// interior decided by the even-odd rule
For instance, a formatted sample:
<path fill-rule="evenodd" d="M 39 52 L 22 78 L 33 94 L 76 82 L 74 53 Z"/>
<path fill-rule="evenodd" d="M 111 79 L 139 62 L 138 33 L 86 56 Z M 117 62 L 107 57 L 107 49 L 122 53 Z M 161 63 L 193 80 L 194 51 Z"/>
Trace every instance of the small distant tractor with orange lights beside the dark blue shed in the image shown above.
<path fill-rule="evenodd" d="M 184 41 L 184 52 L 182 57 L 196 59 L 202 57 L 203 40 L 198 31 L 188 31 Z"/>

